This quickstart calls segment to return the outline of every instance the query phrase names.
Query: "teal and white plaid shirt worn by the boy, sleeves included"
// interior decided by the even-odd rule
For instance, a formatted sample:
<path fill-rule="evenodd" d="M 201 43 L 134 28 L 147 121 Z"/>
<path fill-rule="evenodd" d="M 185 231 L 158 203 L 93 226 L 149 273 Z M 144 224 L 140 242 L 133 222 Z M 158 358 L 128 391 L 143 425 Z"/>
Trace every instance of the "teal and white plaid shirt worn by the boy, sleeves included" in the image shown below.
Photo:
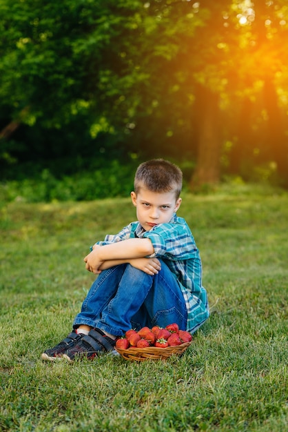
<path fill-rule="evenodd" d="M 139 222 L 131 222 L 116 235 L 106 235 L 105 245 L 138 237 L 148 238 L 154 247 L 150 257 L 162 259 L 176 277 L 187 307 L 187 331 L 193 333 L 209 316 L 207 293 L 202 286 L 202 265 L 194 237 L 183 217 L 176 213 L 167 224 L 145 231 Z"/>

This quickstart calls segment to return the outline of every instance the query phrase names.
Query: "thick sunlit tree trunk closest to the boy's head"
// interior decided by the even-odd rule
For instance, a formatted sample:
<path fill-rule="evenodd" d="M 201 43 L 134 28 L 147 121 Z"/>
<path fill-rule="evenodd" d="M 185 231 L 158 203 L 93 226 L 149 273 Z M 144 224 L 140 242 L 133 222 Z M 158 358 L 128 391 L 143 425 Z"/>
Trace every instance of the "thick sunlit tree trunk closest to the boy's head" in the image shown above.
<path fill-rule="evenodd" d="M 197 160 L 190 181 L 192 189 L 220 180 L 220 139 L 218 95 L 199 86 L 196 92 Z"/>

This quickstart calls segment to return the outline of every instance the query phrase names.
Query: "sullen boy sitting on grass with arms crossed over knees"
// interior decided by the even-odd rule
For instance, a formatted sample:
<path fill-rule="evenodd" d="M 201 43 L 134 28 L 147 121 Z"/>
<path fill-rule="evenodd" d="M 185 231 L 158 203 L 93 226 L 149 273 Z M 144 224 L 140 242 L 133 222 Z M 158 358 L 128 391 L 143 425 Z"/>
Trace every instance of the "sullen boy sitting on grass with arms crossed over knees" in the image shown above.
<path fill-rule="evenodd" d="M 207 293 L 201 282 L 198 249 L 181 205 L 182 172 L 163 159 L 136 170 L 132 204 L 137 222 L 106 235 L 84 258 L 98 274 L 65 340 L 43 360 L 94 358 L 113 353 L 116 337 L 130 328 L 176 322 L 191 333 L 207 320 Z"/>

